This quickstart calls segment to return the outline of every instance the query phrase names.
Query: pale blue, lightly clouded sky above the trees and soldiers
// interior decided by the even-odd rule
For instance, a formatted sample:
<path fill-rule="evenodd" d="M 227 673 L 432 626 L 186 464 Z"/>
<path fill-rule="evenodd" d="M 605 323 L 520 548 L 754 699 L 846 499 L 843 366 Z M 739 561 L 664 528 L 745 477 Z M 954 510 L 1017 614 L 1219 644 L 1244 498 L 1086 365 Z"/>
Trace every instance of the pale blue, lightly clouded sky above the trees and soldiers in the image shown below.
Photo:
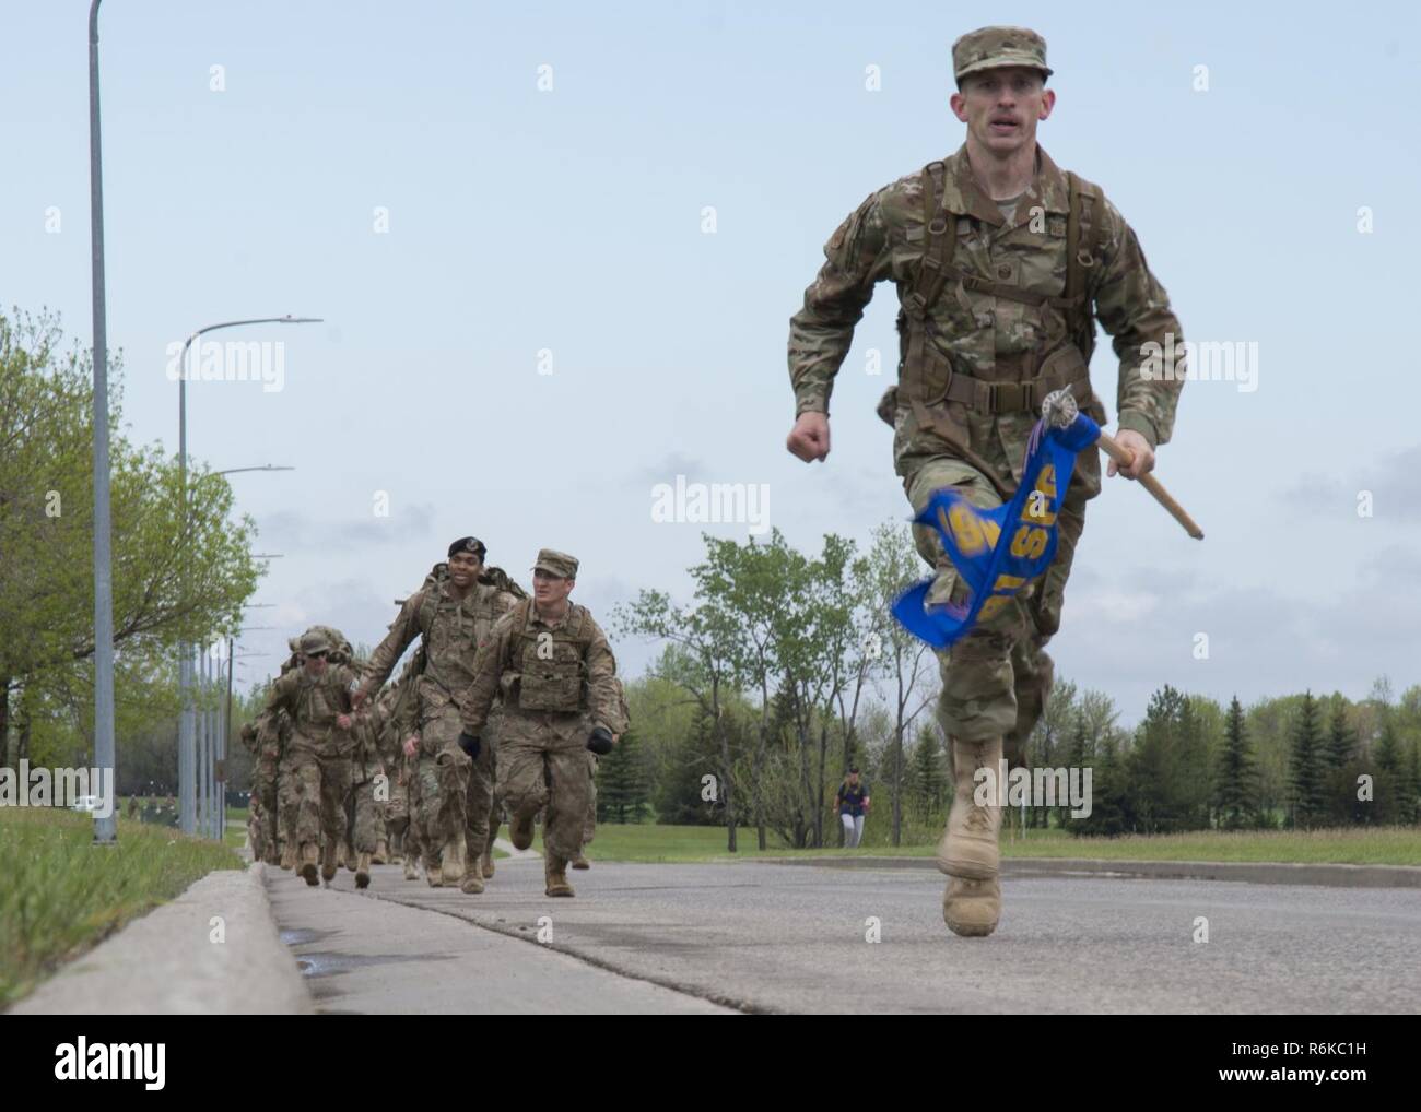
<path fill-rule="evenodd" d="M 0 305 L 84 345 L 87 11 L 0 0 Z M 189 383 L 195 460 L 294 467 L 230 476 L 257 550 L 284 554 L 239 683 L 313 622 L 375 643 L 466 534 L 524 584 L 540 547 L 574 554 L 574 599 L 610 626 L 641 588 L 689 599 L 702 530 L 817 550 L 907 520 L 874 413 L 892 288 L 821 464 L 784 450 L 787 322 L 844 216 L 962 143 L 951 44 L 988 16 L 1046 37 L 1040 142 L 1130 220 L 1185 337 L 1253 352 L 1246 379 L 1185 386 L 1158 454 L 1202 543 L 1125 480 L 1090 506 L 1057 675 L 1127 721 L 1164 683 L 1421 682 L 1414 10 L 107 0 L 128 435 L 176 452 L 192 331 L 323 318 L 217 332 L 266 345 L 266 378 Z M 1113 420 L 1104 337 L 1091 376 Z M 750 484 L 763 513 L 668 521 L 678 476 Z M 615 649 L 634 676 L 655 652 Z"/>

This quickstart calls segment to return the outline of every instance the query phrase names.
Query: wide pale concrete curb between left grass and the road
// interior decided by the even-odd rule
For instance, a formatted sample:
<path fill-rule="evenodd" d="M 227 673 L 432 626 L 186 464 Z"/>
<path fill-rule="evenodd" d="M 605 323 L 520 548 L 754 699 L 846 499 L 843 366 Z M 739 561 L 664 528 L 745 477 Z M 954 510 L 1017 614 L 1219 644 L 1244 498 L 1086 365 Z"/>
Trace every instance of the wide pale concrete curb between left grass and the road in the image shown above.
<path fill-rule="evenodd" d="M 257 862 L 209 872 L 71 961 L 10 1014 L 310 1014 L 310 993 L 271 917 L 263 869 Z"/>

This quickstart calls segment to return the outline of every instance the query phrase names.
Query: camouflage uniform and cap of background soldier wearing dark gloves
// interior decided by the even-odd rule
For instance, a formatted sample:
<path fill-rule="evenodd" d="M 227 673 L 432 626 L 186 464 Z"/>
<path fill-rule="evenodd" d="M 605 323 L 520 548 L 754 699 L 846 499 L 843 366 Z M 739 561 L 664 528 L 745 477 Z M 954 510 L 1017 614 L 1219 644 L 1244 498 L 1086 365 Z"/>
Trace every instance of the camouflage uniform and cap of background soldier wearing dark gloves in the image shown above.
<path fill-rule="evenodd" d="M 577 561 L 544 550 L 539 567 L 573 578 Z M 617 696 L 617 660 L 585 606 L 568 602 L 556 622 L 524 599 L 479 646 L 463 700 L 465 731 L 482 737 L 503 693 L 497 794 L 514 825 L 546 808 L 547 866 L 561 872 L 583 846 L 588 807 L 587 743 L 594 727 L 625 727 Z"/>

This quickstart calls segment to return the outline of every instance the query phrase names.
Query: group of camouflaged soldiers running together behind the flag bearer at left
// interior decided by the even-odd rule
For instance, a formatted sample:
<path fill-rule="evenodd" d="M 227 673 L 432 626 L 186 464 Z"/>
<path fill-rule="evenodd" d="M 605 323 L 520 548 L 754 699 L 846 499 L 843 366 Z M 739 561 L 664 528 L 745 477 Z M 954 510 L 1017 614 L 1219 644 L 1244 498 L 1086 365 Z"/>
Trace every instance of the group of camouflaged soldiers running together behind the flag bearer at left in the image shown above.
<path fill-rule="evenodd" d="M 588 868 L 597 756 L 627 729 L 607 636 L 568 595 L 577 560 L 544 548 L 533 594 L 460 537 L 368 662 L 330 626 L 290 642 L 266 709 L 243 729 L 253 753 L 252 851 L 311 886 L 371 865 L 475 895 L 495 873 L 507 812 L 517 849 L 543 815 L 549 896 Z M 394 683 L 405 650 L 419 646 Z"/>

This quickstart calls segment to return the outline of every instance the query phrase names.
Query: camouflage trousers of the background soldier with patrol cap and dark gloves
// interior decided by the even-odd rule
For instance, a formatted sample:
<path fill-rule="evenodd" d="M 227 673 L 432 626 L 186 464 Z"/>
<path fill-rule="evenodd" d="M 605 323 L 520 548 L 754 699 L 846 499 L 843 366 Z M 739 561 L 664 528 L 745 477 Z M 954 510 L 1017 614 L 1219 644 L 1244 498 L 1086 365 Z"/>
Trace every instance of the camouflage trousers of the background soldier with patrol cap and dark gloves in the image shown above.
<path fill-rule="evenodd" d="M 514 815 L 546 808 L 543 848 L 568 862 L 583 848 L 587 822 L 587 736 L 584 714 L 522 714 L 506 710 L 499 736 L 497 790 Z"/>

